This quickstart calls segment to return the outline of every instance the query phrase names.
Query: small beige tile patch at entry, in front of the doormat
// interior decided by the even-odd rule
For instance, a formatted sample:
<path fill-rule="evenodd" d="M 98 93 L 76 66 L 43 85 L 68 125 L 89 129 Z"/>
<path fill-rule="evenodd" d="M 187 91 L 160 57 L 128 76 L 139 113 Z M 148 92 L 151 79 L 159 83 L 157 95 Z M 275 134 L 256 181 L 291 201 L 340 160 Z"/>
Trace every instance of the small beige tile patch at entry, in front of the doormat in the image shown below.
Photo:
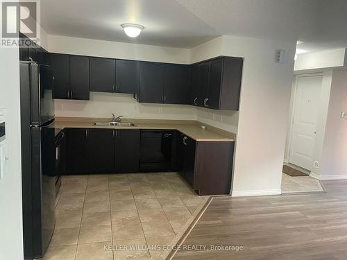
<path fill-rule="evenodd" d="M 291 177 L 282 173 L 281 183 L 282 194 L 324 192 L 323 185 L 319 180 L 310 176 Z"/>

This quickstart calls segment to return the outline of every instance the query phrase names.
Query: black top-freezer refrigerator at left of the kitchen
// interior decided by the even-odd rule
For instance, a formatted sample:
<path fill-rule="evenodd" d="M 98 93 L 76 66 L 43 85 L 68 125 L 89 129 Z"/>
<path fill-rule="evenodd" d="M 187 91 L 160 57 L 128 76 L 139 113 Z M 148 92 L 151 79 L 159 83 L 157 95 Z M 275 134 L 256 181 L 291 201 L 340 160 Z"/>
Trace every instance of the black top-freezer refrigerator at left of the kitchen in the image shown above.
<path fill-rule="evenodd" d="M 51 68 L 20 62 L 24 259 L 44 256 L 56 224 Z"/>

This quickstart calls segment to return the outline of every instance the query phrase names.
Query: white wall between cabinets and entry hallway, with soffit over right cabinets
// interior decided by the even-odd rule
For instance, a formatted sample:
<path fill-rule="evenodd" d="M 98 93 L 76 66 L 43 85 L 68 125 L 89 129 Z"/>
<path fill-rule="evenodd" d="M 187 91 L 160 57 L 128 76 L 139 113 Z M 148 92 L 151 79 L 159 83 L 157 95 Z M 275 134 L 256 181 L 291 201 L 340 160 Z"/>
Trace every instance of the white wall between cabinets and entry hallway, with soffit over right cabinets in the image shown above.
<path fill-rule="evenodd" d="M 278 49 L 287 53 L 285 64 L 275 62 Z M 239 112 L 228 115 L 230 122 L 239 119 L 232 196 L 280 193 L 295 49 L 295 41 L 224 35 L 192 49 L 192 62 L 217 55 L 244 58 Z M 213 113 L 198 113 L 198 120 Z"/>

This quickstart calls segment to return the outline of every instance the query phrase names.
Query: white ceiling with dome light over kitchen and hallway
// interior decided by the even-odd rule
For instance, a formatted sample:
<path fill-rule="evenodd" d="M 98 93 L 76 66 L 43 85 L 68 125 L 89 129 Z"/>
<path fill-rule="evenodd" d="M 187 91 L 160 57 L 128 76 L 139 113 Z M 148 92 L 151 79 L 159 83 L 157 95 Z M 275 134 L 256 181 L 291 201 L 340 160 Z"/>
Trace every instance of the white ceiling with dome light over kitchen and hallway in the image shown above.
<path fill-rule="evenodd" d="M 219 35 L 302 40 L 304 51 L 347 47 L 347 0 L 44 0 L 49 34 L 192 48 Z M 142 24 L 126 37 L 120 24 Z"/>

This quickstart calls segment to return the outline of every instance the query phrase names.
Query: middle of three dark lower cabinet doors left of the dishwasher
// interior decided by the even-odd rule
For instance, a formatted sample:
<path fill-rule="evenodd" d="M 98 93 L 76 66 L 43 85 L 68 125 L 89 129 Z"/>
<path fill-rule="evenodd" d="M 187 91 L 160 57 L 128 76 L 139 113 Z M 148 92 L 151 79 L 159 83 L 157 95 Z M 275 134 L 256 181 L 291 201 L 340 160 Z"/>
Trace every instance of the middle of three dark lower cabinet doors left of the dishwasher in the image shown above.
<path fill-rule="evenodd" d="M 115 164 L 115 130 L 87 129 L 87 173 L 112 173 Z"/>

